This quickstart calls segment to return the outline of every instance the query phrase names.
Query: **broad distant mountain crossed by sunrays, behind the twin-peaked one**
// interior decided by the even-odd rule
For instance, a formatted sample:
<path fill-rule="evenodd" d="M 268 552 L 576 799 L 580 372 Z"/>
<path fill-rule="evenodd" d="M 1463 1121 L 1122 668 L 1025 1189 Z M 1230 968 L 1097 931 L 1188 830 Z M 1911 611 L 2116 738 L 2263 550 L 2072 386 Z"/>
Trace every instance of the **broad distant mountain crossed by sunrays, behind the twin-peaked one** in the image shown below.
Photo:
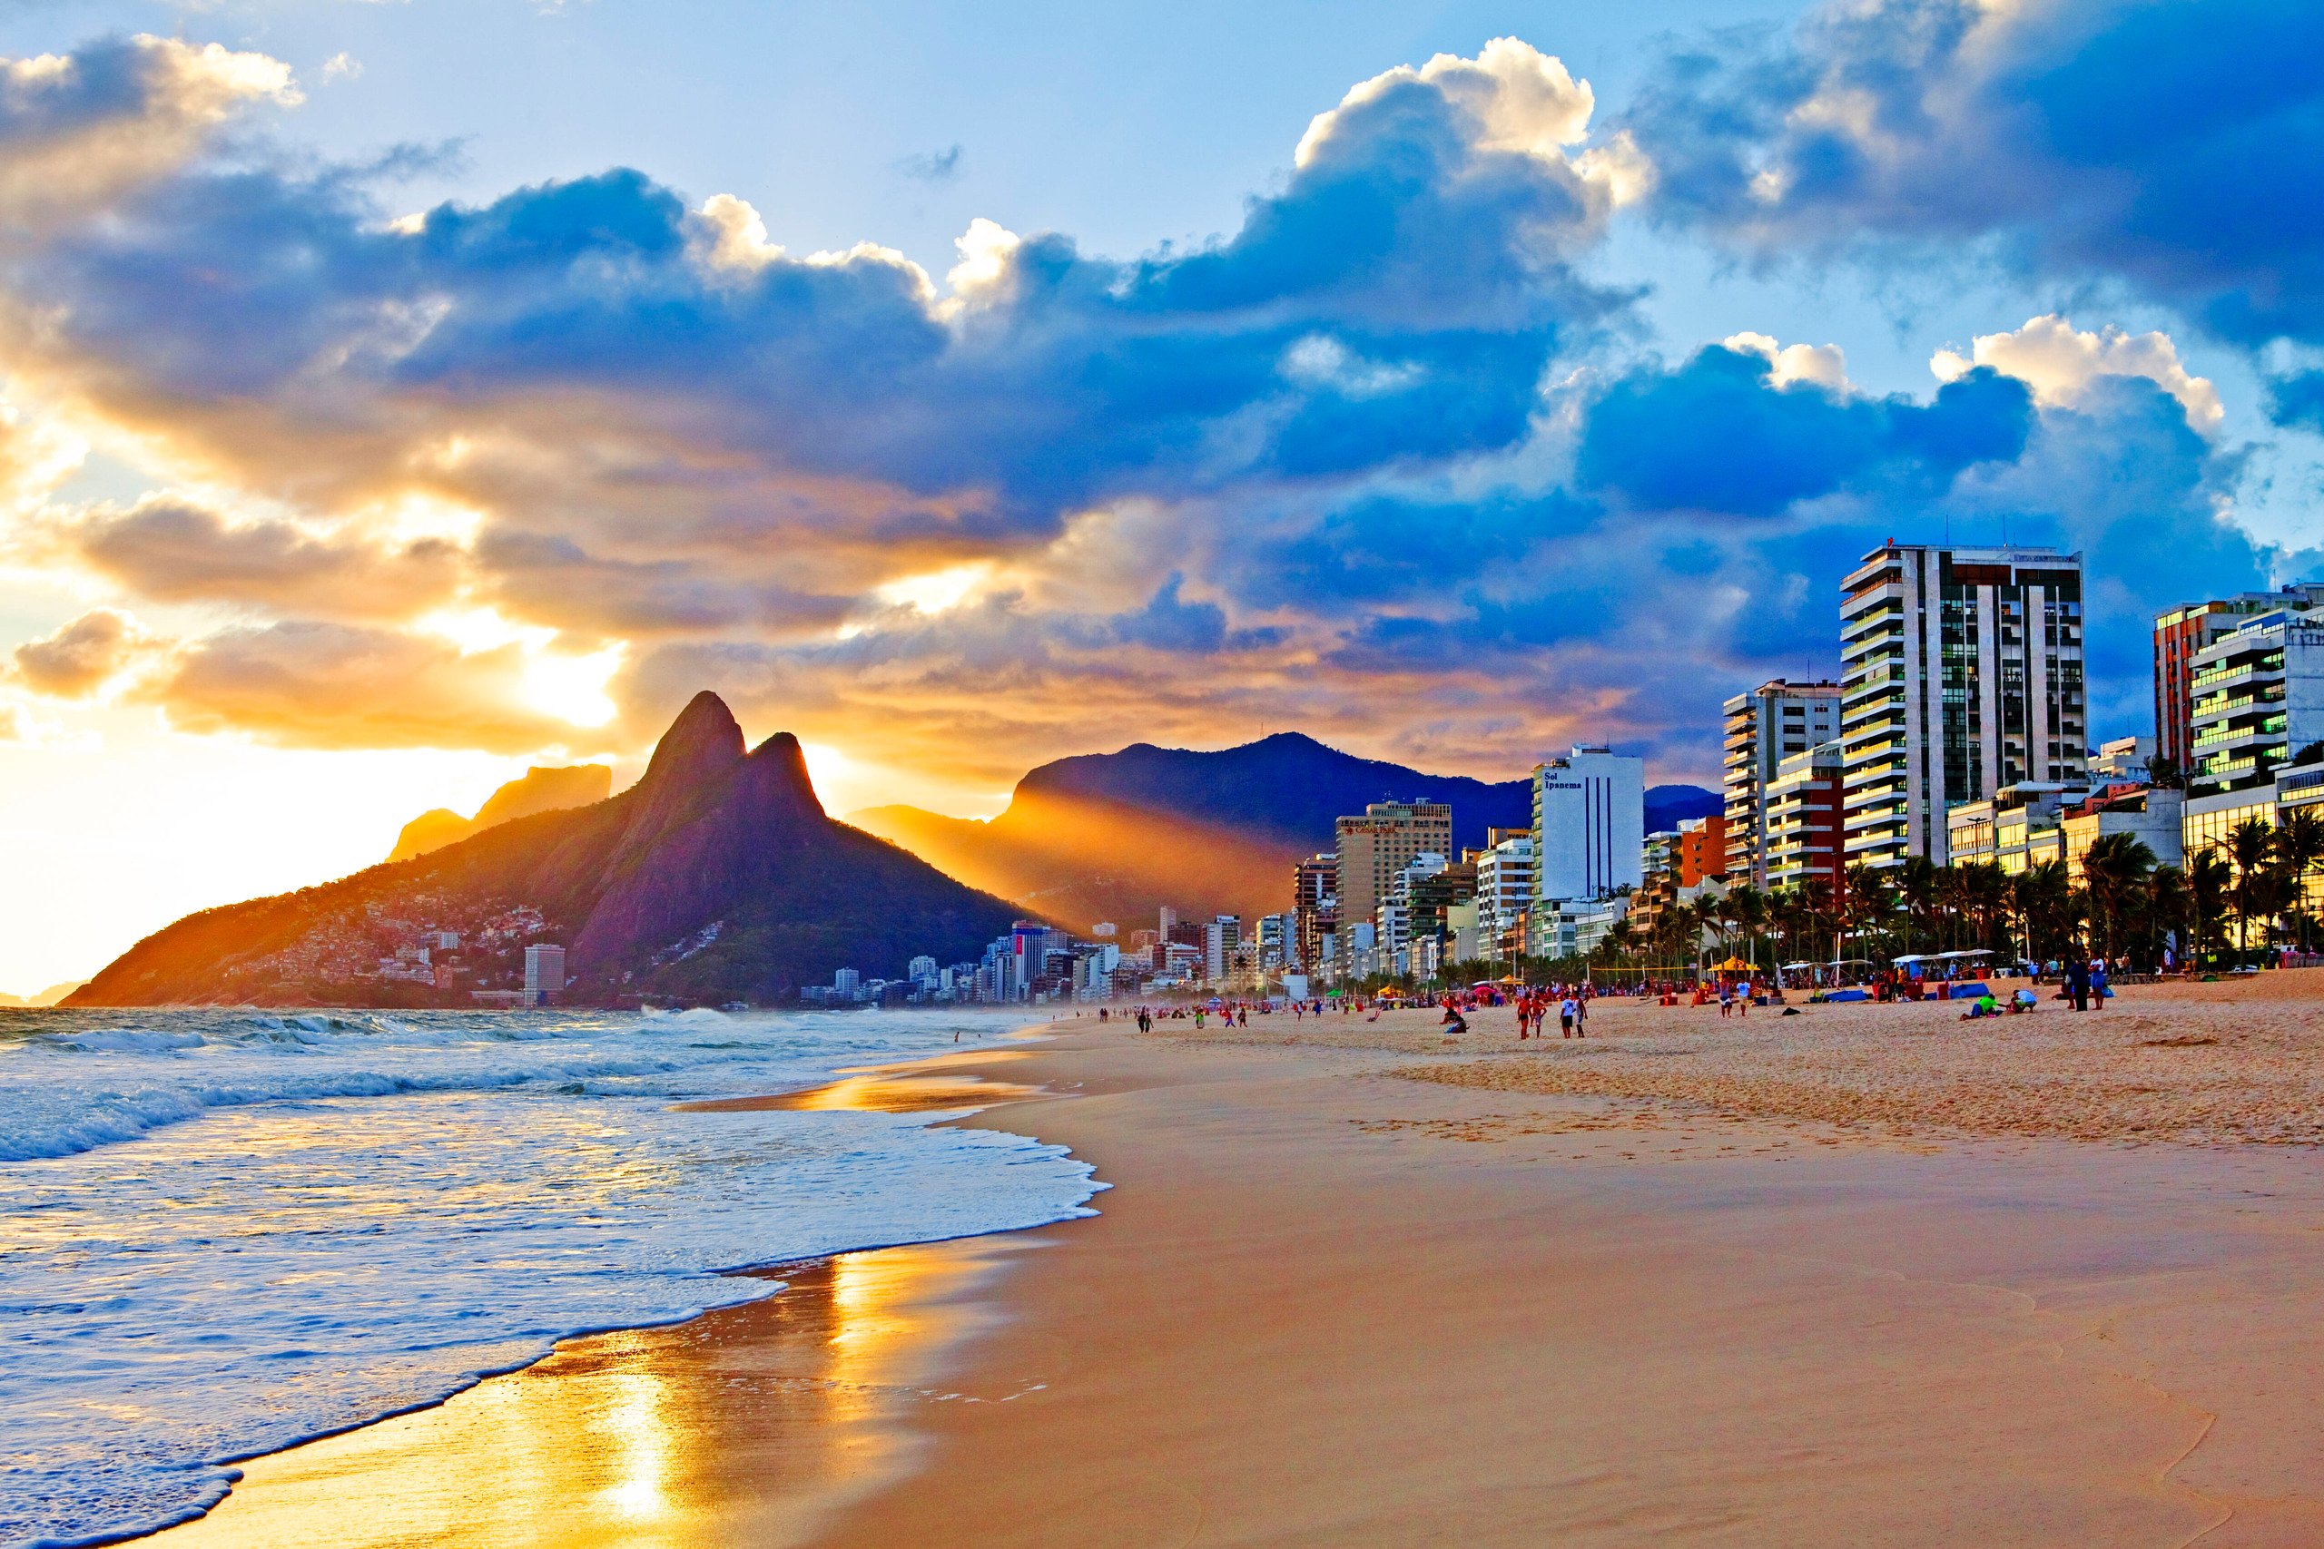
<path fill-rule="evenodd" d="M 1650 804 L 1650 822 L 1717 801 L 1692 785 L 1652 794 L 1664 806 Z M 1385 799 L 1448 801 L 1455 848 L 1534 817 L 1532 780 L 1432 776 L 1278 732 L 1220 752 L 1136 743 L 1041 764 L 990 822 L 913 806 L 851 813 L 851 822 L 1053 920 L 1127 927 L 1164 903 L 1188 917 L 1287 910 L 1292 864 L 1332 848 L 1334 820 Z"/>

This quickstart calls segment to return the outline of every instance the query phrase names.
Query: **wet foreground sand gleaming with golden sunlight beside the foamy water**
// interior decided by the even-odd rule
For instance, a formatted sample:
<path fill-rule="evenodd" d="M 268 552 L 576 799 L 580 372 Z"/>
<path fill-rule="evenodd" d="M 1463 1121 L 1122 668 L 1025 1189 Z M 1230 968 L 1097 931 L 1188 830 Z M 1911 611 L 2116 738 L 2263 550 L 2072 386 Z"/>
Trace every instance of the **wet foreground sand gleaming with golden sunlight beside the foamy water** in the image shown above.
<path fill-rule="evenodd" d="M 202 1521 L 146 1542 L 792 1544 L 892 1479 L 909 1410 L 995 1317 L 1025 1238 L 841 1254 L 672 1328 L 569 1340 L 539 1366 L 246 1465 Z M 746 1486 L 746 1489 L 741 1489 Z"/>

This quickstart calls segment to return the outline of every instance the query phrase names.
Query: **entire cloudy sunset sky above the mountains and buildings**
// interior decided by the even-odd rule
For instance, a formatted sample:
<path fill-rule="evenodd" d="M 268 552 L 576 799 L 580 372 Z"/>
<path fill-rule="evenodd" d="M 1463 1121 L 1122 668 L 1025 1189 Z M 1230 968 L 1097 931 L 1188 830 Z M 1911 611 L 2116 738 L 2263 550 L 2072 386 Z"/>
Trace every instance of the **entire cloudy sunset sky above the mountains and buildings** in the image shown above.
<path fill-rule="evenodd" d="M 2289 0 L 0 7 L 0 989 L 702 687 L 832 810 L 1715 783 L 1875 543 L 2324 571 Z"/>

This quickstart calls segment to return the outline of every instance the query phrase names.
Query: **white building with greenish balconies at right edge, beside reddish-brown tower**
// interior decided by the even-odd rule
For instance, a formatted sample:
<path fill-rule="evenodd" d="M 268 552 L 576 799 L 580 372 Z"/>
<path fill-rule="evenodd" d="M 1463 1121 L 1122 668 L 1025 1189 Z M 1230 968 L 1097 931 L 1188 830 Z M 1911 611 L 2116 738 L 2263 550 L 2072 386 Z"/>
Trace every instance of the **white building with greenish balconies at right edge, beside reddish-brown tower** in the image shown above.
<path fill-rule="evenodd" d="M 2257 790 L 2324 739 L 2324 613 L 2278 608 L 2229 629 L 2189 662 L 2196 794 Z"/>

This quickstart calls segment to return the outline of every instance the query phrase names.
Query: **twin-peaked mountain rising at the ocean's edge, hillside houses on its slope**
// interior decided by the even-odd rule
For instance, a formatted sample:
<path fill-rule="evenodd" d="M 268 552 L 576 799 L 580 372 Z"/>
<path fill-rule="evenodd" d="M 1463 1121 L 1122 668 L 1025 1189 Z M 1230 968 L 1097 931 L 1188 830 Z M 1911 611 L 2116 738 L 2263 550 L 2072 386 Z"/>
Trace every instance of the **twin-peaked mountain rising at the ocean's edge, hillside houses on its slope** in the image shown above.
<path fill-rule="evenodd" d="M 569 1001 L 786 1003 L 834 968 L 976 957 L 1016 913 L 830 820 L 797 739 L 746 750 L 704 692 L 618 797 L 188 915 L 67 1006 L 467 1006 L 472 987 L 521 982 L 528 943 L 567 948 Z"/>

